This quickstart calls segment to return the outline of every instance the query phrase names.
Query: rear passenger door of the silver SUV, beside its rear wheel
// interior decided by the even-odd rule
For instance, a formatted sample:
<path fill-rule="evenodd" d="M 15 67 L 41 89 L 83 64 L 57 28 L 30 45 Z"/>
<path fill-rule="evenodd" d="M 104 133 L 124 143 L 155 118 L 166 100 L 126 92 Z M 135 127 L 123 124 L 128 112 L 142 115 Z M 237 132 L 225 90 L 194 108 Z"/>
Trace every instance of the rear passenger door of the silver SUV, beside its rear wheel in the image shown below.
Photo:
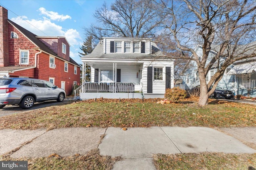
<path fill-rule="evenodd" d="M 44 100 L 48 98 L 48 88 L 44 86 L 42 80 L 32 80 L 32 87 L 36 94 L 37 100 Z"/>

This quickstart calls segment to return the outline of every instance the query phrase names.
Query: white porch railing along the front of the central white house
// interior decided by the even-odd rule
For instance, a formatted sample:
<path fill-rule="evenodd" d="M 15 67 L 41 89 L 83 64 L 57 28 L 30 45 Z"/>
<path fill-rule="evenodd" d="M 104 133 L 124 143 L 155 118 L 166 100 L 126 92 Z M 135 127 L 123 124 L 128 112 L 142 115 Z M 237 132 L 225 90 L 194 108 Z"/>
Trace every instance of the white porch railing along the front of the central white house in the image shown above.
<path fill-rule="evenodd" d="M 85 82 L 84 92 L 128 92 L 140 91 L 140 83 Z"/>

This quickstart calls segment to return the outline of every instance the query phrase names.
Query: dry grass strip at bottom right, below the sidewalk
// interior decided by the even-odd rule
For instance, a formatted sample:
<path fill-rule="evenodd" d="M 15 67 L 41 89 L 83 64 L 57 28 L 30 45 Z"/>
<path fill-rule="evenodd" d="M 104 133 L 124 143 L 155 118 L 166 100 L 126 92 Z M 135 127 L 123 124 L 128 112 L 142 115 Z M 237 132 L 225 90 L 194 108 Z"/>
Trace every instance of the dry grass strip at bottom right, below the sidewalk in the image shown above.
<path fill-rule="evenodd" d="M 256 154 L 154 154 L 157 170 L 255 170 Z"/>

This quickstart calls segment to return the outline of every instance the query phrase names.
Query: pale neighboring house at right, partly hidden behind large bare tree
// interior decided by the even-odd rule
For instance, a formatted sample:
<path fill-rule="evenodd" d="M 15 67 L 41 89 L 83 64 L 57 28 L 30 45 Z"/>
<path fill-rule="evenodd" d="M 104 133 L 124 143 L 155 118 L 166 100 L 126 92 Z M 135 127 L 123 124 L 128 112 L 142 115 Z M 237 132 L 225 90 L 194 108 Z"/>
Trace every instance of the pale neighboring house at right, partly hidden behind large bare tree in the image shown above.
<path fill-rule="evenodd" d="M 214 49 L 218 50 L 218 45 L 212 45 L 212 50 L 209 53 L 209 61 L 217 54 Z M 202 46 L 198 45 L 195 51 L 198 57 L 202 57 Z M 225 58 L 221 58 L 219 65 L 221 66 L 224 61 Z M 208 64 L 208 62 L 206 64 Z M 216 62 L 206 75 L 206 83 L 208 83 L 211 76 L 216 73 L 217 68 L 218 63 Z M 198 67 L 195 61 L 188 61 L 181 74 L 183 75 L 183 84 L 186 85 L 186 89 L 193 88 L 200 84 Z M 237 61 L 228 66 L 222 79 L 218 83 L 218 87 L 231 90 L 235 95 L 241 94 L 243 96 L 256 97 L 256 57 Z"/>

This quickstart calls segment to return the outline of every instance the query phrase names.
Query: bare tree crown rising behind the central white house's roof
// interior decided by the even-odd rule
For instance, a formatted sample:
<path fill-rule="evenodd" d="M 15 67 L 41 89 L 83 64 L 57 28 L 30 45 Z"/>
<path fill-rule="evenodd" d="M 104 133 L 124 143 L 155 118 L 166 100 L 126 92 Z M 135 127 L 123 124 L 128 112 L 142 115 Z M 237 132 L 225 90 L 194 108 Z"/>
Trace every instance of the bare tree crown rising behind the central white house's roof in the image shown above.
<path fill-rule="evenodd" d="M 98 24 L 84 27 L 86 37 L 149 37 L 161 21 L 154 5 L 150 0 L 116 0 L 109 8 L 105 2 L 94 13 Z"/>

